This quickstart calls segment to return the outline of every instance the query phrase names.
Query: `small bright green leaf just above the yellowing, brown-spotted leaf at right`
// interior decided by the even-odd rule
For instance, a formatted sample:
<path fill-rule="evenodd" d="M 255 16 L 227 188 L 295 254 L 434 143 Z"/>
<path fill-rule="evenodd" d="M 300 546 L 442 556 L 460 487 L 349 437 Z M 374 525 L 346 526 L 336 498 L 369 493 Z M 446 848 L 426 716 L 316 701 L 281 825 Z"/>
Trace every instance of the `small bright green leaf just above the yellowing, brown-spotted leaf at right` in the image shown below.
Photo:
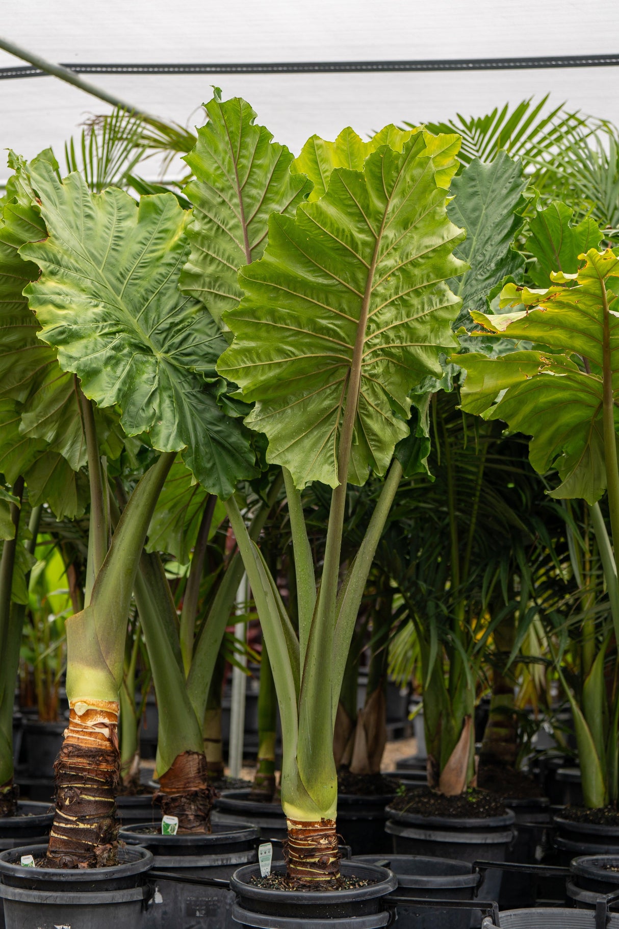
<path fill-rule="evenodd" d="M 573 216 L 574 210 L 555 201 L 529 221 L 525 247 L 535 255 L 535 262 L 527 271 L 536 287 L 548 287 L 552 271 L 575 274 L 578 256 L 600 246 L 602 234 L 595 220 L 583 219 L 576 226 Z"/>

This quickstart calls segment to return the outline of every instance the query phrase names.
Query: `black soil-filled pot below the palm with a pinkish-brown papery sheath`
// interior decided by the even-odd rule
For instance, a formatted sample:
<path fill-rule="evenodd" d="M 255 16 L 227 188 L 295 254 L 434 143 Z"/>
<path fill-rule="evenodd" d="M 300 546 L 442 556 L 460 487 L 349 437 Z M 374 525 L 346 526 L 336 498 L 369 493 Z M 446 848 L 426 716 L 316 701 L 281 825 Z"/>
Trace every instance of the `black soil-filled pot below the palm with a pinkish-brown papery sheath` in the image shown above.
<path fill-rule="evenodd" d="M 451 857 L 471 864 L 478 859 L 503 862 L 516 836 L 511 810 L 487 818 L 424 817 L 391 806 L 386 813 L 385 831 L 392 836 L 397 855 Z M 501 877 L 500 870 L 486 871 L 484 899 L 498 899 Z"/>

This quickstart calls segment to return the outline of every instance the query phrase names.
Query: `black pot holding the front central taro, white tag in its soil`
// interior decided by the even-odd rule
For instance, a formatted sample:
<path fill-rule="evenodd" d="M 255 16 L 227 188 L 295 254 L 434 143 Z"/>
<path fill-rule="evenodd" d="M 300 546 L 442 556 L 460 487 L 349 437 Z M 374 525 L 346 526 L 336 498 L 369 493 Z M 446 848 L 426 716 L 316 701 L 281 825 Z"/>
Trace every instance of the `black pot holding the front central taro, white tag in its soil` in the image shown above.
<path fill-rule="evenodd" d="M 393 911 L 387 895 L 397 885 L 393 871 L 358 861 L 342 861 L 340 867 L 343 876 L 373 883 L 354 890 L 271 890 L 251 884 L 251 878 L 260 875 L 258 865 L 239 868 L 230 879 L 237 895 L 232 918 L 248 929 L 319 929 L 326 925 L 329 929 L 378 929 L 389 925 Z M 277 862 L 272 871 L 285 873 L 286 865 Z"/>

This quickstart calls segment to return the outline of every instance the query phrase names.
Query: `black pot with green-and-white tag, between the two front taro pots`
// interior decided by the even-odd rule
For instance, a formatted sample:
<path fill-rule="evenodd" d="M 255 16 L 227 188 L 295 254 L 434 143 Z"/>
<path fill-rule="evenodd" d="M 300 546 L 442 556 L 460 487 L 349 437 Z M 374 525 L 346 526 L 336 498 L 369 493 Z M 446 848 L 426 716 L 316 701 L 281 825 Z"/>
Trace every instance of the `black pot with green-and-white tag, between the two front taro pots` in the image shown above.
<path fill-rule="evenodd" d="M 154 831 L 157 829 L 157 831 Z M 148 848 L 154 869 L 177 878 L 215 878 L 227 881 L 239 865 L 257 859 L 259 831 L 250 823 L 213 821 L 213 831 L 161 835 L 161 827 L 140 823 L 122 829 L 127 844 Z M 156 878 L 148 904 L 145 929 L 234 929 L 234 894 L 226 886 L 203 886 Z"/>

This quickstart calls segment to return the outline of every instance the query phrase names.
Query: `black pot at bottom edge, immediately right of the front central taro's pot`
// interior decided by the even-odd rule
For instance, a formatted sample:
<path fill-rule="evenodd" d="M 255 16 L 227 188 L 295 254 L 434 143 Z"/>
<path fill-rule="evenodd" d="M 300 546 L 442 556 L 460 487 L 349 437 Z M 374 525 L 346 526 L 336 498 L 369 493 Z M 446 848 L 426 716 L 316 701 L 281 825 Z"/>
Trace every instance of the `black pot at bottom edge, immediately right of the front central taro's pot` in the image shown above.
<path fill-rule="evenodd" d="M 398 929 L 468 929 L 470 926 L 469 909 L 441 909 L 405 902 L 406 897 L 472 900 L 482 876 L 467 862 L 419 855 L 364 855 L 352 860 L 380 864 L 393 870 L 397 878 Z"/>

